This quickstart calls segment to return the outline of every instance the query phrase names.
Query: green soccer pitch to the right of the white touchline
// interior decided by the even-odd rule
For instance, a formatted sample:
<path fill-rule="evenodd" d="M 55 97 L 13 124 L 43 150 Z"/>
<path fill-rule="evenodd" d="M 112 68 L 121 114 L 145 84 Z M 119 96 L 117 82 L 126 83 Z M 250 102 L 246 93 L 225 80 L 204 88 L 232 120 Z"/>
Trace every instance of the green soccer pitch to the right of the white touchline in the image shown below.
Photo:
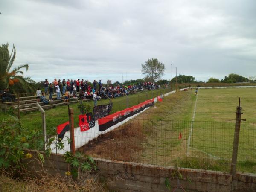
<path fill-rule="evenodd" d="M 236 106 L 241 98 L 242 116 L 239 137 L 239 163 L 256 168 L 256 89 L 199 89 L 192 112 L 187 141 L 189 157 L 230 161 L 233 149 Z M 254 170 L 253 172 L 255 172 Z"/>

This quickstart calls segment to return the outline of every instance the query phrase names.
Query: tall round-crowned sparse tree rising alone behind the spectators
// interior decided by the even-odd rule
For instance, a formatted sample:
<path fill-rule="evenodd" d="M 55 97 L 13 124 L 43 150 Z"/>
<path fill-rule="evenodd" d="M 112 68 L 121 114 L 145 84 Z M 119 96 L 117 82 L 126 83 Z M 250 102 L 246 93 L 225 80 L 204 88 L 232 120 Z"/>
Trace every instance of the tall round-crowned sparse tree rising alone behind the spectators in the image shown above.
<path fill-rule="evenodd" d="M 151 82 L 156 82 L 164 75 L 164 64 L 159 62 L 157 58 L 148 59 L 145 64 L 141 64 L 142 74 L 146 75 Z"/>

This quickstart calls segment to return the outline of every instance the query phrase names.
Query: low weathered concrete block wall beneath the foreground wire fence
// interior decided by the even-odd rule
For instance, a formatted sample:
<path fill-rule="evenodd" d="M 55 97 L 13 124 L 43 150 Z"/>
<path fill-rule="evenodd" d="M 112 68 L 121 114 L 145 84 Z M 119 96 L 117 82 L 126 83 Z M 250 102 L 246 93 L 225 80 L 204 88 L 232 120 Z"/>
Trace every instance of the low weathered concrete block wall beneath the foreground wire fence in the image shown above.
<path fill-rule="evenodd" d="M 27 152 L 27 151 L 26 151 Z M 26 153 L 25 152 L 25 153 Z M 61 154 L 45 157 L 45 163 L 38 162 L 38 151 L 29 151 L 33 157 L 27 159 L 29 170 L 44 170 L 50 175 L 64 176 L 70 168 Z M 177 179 L 171 179 L 174 167 L 155 166 L 141 163 L 130 163 L 115 160 L 94 158 L 99 168 L 99 175 L 108 181 L 110 189 L 121 192 L 167 192 L 166 178 L 170 179 L 172 189 L 177 185 Z M 207 171 L 201 169 L 179 169 L 180 184 L 188 192 L 254 192 L 256 191 L 256 175 L 237 173 L 232 181 L 232 175 L 225 172 Z M 180 190 L 177 190 L 180 191 Z"/>

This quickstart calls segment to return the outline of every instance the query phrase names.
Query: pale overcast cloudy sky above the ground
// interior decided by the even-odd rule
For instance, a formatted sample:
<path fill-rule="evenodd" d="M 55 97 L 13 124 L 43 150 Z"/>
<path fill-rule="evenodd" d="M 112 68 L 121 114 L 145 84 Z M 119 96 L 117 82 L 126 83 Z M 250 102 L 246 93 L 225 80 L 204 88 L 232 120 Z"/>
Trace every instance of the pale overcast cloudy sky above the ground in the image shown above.
<path fill-rule="evenodd" d="M 141 79 L 148 58 L 162 79 L 175 67 L 197 81 L 256 76 L 255 0 L 1 0 L 0 12 L 0 44 L 35 81 Z"/>

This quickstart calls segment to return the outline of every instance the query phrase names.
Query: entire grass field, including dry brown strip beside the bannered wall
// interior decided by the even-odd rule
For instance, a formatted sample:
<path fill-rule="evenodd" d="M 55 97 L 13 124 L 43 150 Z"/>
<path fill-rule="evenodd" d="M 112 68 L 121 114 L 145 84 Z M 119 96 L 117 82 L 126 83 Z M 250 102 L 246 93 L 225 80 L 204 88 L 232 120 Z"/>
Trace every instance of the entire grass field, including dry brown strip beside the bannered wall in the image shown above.
<path fill-rule="evenodd" d="M 255 93 L 253 88 L 199 89 L 198 96 L 178 92 L 80 150 L 95 157 L 229 172 L 240 96 L 247 121 L 241 125 L 237 170 L 256 173 Z"/>

